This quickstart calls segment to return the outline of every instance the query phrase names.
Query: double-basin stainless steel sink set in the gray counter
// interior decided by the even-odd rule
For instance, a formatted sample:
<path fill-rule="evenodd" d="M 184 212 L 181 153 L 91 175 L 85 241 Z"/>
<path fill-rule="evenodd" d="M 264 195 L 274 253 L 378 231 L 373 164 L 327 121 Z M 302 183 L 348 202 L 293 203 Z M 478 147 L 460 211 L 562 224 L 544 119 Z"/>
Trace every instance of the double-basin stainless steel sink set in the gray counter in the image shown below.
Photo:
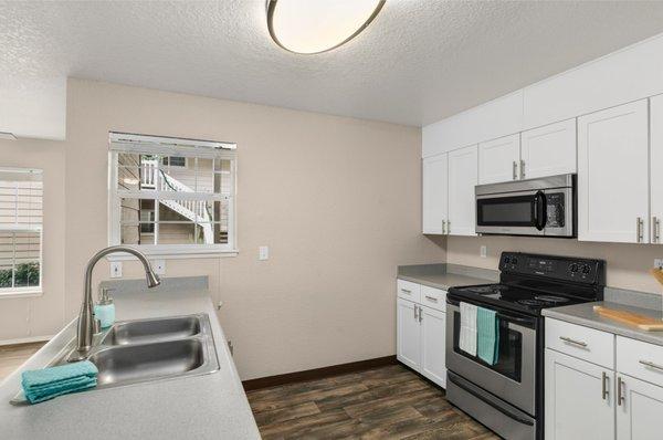
<path fill-rule="evenodd" d="M 66 364 L 73 350 L 75 339 L 49 366 Z M 97 388 L 198 376 L 219 369 L 207 314 L 118 322 L 95 335 L 87 359 L 99 371 Z M 18 400 L 20 397 L 17 396 Z"/>

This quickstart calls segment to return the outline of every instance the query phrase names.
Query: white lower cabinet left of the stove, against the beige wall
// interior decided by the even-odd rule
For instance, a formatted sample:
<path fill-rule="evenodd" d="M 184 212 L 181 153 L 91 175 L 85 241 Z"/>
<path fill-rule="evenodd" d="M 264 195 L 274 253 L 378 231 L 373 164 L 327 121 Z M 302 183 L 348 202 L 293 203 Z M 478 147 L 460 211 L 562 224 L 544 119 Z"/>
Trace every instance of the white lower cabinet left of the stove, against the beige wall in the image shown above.
<path fill-rule="evenodd" d="M 431 290 L 431 287 L 427 289 Z M 435 297 L 439 296 L 438 301 L 444 302 L 446 293 L 436 291 L 439 292 L 439 295 L 435 295 Z M 435 307 L 402 297 L 397 298 L 396 357 L 408 367 L 445 388 L 446 313 L 439 310 L 439 305 Z"/>

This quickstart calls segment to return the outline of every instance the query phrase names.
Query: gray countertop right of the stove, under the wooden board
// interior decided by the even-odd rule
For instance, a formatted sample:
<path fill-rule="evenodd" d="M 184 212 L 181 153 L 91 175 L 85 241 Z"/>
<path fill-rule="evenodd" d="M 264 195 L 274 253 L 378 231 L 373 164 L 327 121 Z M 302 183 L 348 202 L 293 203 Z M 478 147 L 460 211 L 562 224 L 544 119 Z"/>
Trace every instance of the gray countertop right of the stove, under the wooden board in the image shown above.
<path fill-rule="evenodd" d="M 663 332 L 644 332 L 636 327 L 622 324 L 618 321 L 609 319 L 596 313 L 593 311 L 594 305 L 602 305 L 609 308 L 615 308 L 620 311 L 627 311 L 656 317 L 661 319 L 661 310 L 654 311 L 651 308 L 633 307 L 625 304 L 610 303 L 600 301 L 596 303 L 585 303 L 575 305 L 565 305 L 562 307 L 545 308 L 543 311 L 544 316 L 551 317 L 555 319 L 566 321 L 572 324 L 583 325 L 586 327 L 596 328 L 603 332 L 613 333 L 615 335 L 630 337 L 633 339 L 643 341 L 645 343 L 652 343 L 656 345 L 663 345 Z"/>

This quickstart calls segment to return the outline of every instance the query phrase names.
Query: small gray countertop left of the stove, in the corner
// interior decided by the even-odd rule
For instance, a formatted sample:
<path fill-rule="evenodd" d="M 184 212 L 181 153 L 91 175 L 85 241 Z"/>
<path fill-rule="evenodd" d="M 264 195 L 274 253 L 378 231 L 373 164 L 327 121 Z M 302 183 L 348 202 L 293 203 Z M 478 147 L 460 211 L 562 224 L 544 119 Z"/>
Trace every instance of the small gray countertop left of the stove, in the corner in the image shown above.
<path fill-rule="evenodd" d="M 486 284 L 499 279 L 497 271 L 454 264 L 420 264 L 399 266 L 397 277 L 430 287 L 449 287 Z"/>

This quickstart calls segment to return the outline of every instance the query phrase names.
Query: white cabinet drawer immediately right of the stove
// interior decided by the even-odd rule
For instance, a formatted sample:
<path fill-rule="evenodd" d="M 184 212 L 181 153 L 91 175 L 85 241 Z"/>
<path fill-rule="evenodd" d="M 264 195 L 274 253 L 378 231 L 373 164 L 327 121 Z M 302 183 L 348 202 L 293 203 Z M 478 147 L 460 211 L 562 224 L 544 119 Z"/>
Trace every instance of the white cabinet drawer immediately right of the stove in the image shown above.
<path fill-rule="evenodd" d="M 547 317 L 546 347 L 606 368 L 614 368 L 612 333 Z"/>

